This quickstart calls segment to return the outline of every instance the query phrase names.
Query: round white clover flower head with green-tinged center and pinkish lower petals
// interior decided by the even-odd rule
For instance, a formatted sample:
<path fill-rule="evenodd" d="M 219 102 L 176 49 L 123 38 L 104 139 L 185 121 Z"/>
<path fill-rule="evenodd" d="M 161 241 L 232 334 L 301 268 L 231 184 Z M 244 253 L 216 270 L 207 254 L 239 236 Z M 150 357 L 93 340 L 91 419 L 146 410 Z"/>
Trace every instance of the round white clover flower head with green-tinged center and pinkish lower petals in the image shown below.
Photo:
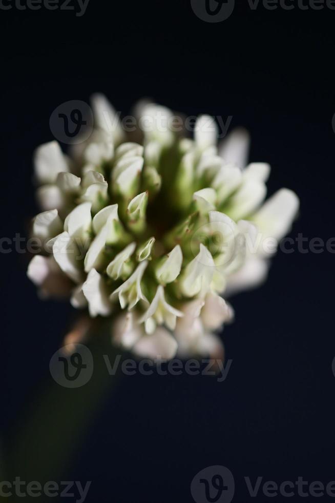
<path fill-rule="evenodd" d="M 182 138 L 170 110 L 141 102 L 135 143 L 103 95 L 92 109 L 94 131 L 71 159 L 55 141 L 35 151 L 43 253 L 29 278 L 41 296 L 106 317 L 113 343 L 140 357 L 222 357 L 216 333 L 234 317 L 222 295 L 266 277 L 276 246 L 265 245 L 289 230 L 297 196 L 281 189 L 263 204 L 270 167 L 246 165 L 242 129 L 218 146 L 203 115 Z"/>

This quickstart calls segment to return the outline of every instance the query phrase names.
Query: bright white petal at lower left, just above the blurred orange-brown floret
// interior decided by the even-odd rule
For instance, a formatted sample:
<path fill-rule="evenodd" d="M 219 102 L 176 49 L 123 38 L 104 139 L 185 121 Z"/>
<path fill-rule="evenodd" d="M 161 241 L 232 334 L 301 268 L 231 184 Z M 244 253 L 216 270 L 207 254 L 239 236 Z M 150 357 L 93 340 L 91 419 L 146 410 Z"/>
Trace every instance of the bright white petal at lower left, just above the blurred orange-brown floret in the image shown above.
<path fill-rule="evenodd" d="M 82 285 L 82 291 L 89 303 L 89 313 L 92 317 L 108 316 L 112 312 L 106 283 L 95 269 L 90 270 L 87 280 Z"/>

